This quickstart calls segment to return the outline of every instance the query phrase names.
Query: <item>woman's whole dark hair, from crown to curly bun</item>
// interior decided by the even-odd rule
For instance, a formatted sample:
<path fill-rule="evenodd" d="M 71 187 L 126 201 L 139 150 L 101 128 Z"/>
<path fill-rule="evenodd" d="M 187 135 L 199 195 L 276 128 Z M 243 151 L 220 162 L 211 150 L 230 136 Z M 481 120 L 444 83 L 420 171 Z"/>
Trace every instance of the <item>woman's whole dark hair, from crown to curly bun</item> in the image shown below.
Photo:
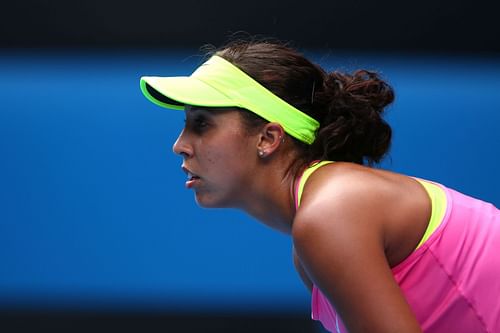
<path fill-rule="evenodd" d="M 215 54 L 319 121 L 312 145 L 294 140 L 304 162 L 373 164 L 387 153 L 392 131 L 382 114 L 394 100 L 394 92 L 377 73 L 327 73 L 296 50 L 276 42 L 233 42 Z M 252 112 L 244 112 L 244 121 L 247 127 L 266 122 Z"/>

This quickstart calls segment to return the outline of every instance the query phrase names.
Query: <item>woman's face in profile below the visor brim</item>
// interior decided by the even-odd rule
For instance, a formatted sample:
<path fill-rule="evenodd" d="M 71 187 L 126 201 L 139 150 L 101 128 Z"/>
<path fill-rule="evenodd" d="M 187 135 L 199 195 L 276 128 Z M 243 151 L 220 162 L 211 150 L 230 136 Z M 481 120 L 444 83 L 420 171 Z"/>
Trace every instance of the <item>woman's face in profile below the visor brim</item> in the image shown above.
<path fill-rule="evenodd" d="M 173 150 L 183 157 L 186 187 L 203 207 L 241 207 L 252 182 L 257 137 L 236 110 L 186 106 L 186 124 Z"/>

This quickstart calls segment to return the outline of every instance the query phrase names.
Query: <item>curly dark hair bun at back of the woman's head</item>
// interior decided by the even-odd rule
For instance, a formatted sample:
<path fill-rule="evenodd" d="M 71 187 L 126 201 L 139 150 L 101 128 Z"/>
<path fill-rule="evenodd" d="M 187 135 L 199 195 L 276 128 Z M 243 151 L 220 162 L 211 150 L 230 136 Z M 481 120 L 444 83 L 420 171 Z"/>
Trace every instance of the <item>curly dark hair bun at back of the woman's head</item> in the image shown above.
<path fill-rule="evenodd" d="M 364 164 L 379 162 L 390 147 L 392 131 L 382 118 L 394 91 L 375 72 L 332 72 L 324 81 L 327 112 L 314 151 L 321 159 Z"/>

